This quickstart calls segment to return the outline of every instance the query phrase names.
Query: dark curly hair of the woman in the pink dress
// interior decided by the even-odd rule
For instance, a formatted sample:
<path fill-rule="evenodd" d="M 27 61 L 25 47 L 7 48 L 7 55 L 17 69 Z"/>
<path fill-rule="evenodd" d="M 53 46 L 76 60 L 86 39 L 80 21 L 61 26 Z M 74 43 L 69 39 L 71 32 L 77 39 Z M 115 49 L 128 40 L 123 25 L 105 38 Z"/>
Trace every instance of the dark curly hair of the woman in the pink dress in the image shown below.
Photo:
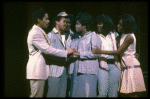
<path fill-rule="evenodd" d="M 122 19 L 122 27 L 124 33 L 134 33 L 137 30 L 135 19 L 130 14 L 122 14 L 119 16 L 119 20 Z"/>

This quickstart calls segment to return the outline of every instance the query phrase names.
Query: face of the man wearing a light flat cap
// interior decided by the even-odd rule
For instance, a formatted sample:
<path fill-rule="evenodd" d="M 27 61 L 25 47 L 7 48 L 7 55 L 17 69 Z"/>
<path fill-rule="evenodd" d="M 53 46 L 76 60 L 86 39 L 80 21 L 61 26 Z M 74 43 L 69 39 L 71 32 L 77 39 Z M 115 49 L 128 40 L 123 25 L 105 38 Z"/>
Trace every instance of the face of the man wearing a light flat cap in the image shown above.
<path fill-rule="evenodd" d="M 67 28 L 67 19 L 63 17 L 59 22 L 57 21 L 56 24 L 58 25 L 59 30 L 63 32 Z"/>

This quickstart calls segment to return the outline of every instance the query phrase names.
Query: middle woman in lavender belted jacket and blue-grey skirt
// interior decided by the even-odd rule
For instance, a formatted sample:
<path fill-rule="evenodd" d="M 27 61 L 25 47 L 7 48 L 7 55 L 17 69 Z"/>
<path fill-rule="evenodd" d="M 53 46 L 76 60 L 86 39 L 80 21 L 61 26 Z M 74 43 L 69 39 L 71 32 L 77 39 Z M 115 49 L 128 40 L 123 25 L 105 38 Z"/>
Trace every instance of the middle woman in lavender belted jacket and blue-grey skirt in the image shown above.
<path fill-rule="evenodd" d="M 88 13 L 80 12 L 76 16 L 76 32 L 80 34 L 80 39 L 75 39 L 71 43 L 71 48 L 75 48 L 78 56 L 70 66 L 71 75 L 71 97 L 96 97 L 97 96 L 97 74 L 99 62 L 97 54 L 92 54 L 94 46 L 101 46 L 101 40 L 95 32 L 91 32 L 93 25 L 92 16 Z"/>

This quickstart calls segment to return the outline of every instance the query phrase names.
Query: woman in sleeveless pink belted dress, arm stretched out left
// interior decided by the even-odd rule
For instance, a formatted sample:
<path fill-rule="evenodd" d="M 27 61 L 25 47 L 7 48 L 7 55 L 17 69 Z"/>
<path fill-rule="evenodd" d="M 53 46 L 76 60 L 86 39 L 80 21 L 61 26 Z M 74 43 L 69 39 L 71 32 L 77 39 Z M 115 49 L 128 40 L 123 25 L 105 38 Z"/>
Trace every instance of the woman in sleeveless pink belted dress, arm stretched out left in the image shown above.
<path fill-rule="evenodd" d="M 136 54 L 137 30 L 135 19 L 130 14 L 123 14 L 119 17 L 117 25 L 118 32 L 122 33 L 120 47 L 115 51 L 105 51 L 96 47 L 92 50 L 94 54 L 120 55 L 121 57 L 121 79 L 119 84 L 120 93 L 130 97 L 138 97 L 139 92 L 146 91 L 140 63 Z"/>

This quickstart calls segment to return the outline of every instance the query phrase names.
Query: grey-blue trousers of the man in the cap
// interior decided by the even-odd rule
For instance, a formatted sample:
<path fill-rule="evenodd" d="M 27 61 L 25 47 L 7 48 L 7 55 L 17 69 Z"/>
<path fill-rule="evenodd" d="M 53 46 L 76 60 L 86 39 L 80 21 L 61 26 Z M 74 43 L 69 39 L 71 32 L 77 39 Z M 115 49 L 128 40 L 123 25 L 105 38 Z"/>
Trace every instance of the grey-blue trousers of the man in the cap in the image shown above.
<path fill-rule="evenodd" d="M 47 97 L 66 97 L 67 75 L 66 71 L 60 77 L 48 77 Z"/>

